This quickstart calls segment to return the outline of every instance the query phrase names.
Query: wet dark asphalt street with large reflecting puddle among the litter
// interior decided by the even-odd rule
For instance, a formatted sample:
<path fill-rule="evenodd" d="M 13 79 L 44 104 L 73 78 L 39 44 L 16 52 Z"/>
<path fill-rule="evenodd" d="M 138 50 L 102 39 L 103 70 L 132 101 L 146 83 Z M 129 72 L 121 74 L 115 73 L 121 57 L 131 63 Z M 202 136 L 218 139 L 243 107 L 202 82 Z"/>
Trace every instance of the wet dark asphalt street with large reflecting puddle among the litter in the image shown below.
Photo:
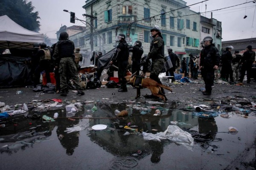
<path fill-rule="evenodd" d="M 142 97 L 135 99 L 136 89 L 130 86 L 125 93 L 114 88 L 87 89 L 84 96 L 77 96 L 70 90 L 67 97 L 35 93 L 32 88 L 0 89 L 0 102 L 16 109 L 20 108 L 16 104 L 26 103 L 29 107 L 26 113 L 0 119 L 0 125 L 5 125 L 0 127 L 1 169 L 256 169 L 256 114 L 251 106 L 251 102 L 256 102 L 256 82 L 215 84 L 210 96 L 199 91 L 204 83 L 201 79 L 198 82 L 169 83 L 173 93 L 165 91 L 166 103 L 161 99 L 145 98 L 150 94 L 148 89 L 142 89 Z M 58 104 L 63 106 L 36 107 L 53 103 L 49 99 L 62 99 Z M 81 103 L 82 107 L 78 107 L 77 113 L 69 114 L 65 105 L 70 103 Z M 200 112 L 194 111 L 195 105 L 207 105 L 217 116 L 198 116 Z M 232 111 L 231 105 L 244 111 Z M 141 114 L 143 108 L 150 110 Z M 161 111 L 160 116 L 154 116 L 157 109 Z M 115 110 L 126 110 L 128 116 L 105 119 L 115 118 Z M 55 122 L 42 121 L 43 115 L 53 118 L 54 113 L 58 113 Z M 221 113 L 229 117 L 224 118 Z M 27 117 L 34 114 L 40 119 Z M 87 119 L 89 116 L 103 119 Z M 141 132 L 163 132 L 174 121 L 194 137 L 191 148 L 167 139 L 161 142 L 143 139 Z M 107 125 L 107 128 L 93 130 L 93 125 Z M 125 129 L 125 125 L 137 131 Z M 83 129 L 65 131 L 76 126 Z M 238 132 L 230 133 L 229 127 L 236 127 Z M 126 132 L 129 135 L 124 135 Z"/>

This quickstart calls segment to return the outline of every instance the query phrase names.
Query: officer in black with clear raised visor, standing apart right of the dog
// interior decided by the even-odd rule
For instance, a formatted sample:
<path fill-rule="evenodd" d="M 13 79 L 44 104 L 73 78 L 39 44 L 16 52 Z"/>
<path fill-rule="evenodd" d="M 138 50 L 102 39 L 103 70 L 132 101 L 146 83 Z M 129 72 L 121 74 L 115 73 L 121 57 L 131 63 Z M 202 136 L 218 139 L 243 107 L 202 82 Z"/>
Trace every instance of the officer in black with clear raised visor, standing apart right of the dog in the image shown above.
<path fill-rule="evenodd" d="M 218 49 L 212 44 L 212 37 L 207 36 L 203 39 L 204 48 L 201 51 L 200 69 L 205 83 L 204 95 L 211 95 L 214 71 L 220 65 L 220 55 Z"/>

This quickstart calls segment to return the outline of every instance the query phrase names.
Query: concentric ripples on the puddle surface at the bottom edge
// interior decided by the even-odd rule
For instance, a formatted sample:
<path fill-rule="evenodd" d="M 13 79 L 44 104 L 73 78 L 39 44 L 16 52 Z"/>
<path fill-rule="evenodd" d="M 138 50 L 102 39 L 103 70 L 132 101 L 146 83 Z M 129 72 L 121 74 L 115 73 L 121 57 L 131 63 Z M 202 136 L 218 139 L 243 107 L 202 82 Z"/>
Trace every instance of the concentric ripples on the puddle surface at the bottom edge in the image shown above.
<path fill-rule="evenodd" d="M 138 160 L 132 157 L 118 158 L 110 161 L 109 170 L 131 170 L 138 165 Z"/>

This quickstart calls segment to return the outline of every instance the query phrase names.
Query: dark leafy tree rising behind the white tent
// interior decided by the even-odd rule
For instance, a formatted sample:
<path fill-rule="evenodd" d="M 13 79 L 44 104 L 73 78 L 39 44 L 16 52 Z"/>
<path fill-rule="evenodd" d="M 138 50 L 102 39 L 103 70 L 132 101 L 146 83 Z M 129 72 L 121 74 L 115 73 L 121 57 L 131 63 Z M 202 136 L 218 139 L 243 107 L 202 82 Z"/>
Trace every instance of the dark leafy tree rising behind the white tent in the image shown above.
<path fill-rule="evenodd" d="M 38 32 L 40 30 L 40 22 L 38 19 L 38 11 L 32 2 L 27 0 L 0 0 L 0 15 L 7 15 L 15 23 L 30 30 Z"/>

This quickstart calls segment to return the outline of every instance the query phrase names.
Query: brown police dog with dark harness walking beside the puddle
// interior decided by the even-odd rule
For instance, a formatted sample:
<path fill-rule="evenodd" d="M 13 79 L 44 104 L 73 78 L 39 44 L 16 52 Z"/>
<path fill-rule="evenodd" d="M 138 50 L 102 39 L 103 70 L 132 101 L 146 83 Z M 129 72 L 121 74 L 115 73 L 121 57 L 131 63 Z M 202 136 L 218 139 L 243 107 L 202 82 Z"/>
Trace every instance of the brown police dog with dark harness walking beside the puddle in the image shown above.
<path fill-rule="evenodd" d="M 130 85 L 132 85 L 133 87 L 135 87 L 134 86 L 135 77 L 136 77 L 135 74 L 133 74 L 133 75 L 131 75 L 130 79 L 128 80 L 128 83 Z M 155 80 L 153 80 L 151 78 L 143 79 L 143 83 L 141 85 L 141 88 L 148 88 L 151 91 L 152 95 L 160 97 L 161 99 L 163 99 L 164 102 L 166 102 L 166 100 L 168 100 L 168 99 L 161 92 L 161 88 L 165 88 L 165 89 L 172 92 L 172 89 L 170 87 L 168 87 L 166 85 L 162 85 L 162 84 L 156 82 Z M 140 97 L 140 89 L 141 88 L 137 88 L 137 96 L 135 97 L 135 99 Z"/>

